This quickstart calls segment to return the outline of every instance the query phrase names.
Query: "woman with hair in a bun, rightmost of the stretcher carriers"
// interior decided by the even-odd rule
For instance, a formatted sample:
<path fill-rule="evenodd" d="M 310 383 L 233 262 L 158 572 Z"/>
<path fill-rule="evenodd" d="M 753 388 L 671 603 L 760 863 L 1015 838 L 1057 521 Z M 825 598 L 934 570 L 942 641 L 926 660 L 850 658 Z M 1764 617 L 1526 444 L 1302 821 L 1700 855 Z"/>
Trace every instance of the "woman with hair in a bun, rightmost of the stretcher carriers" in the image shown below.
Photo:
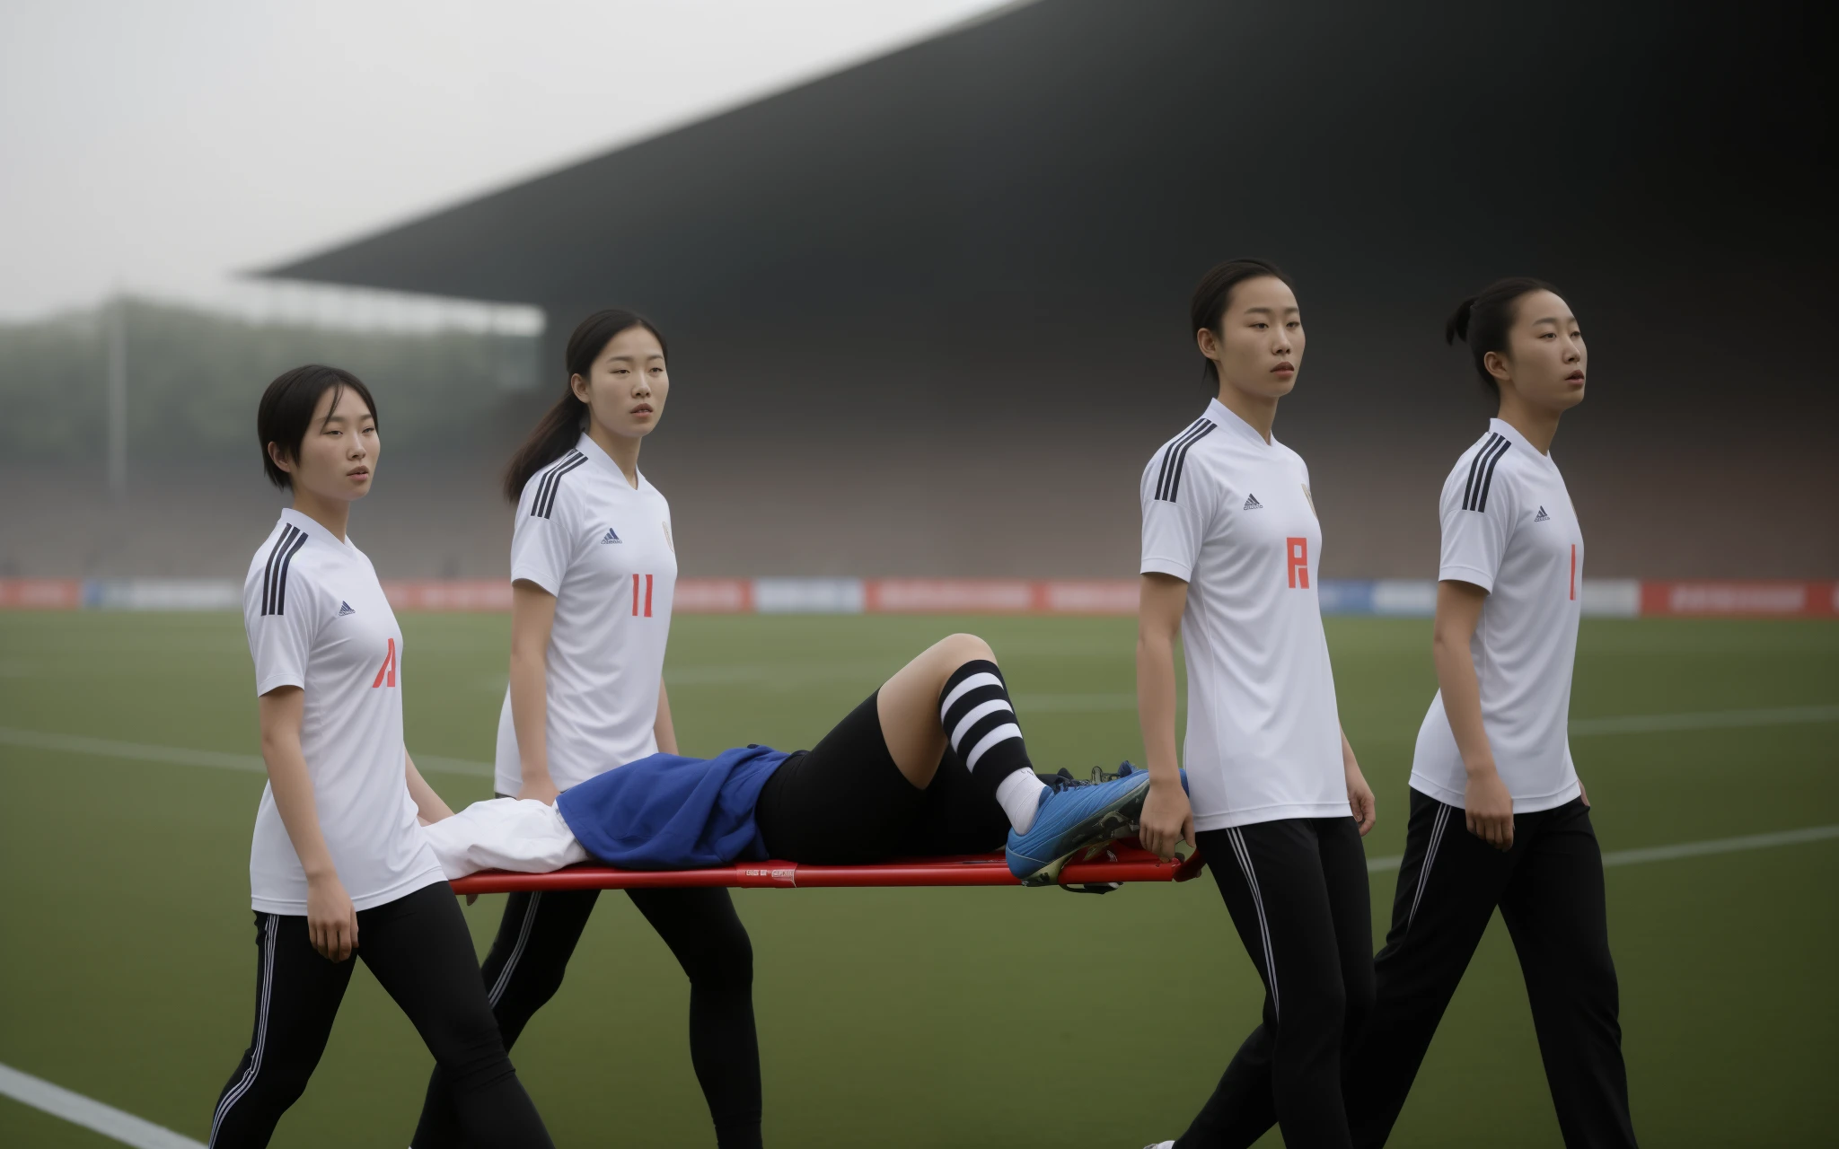
<path fill-rule="evenodd" d="M 1411 767 L 1411 829 L 1348 1077 L 1357 1145 L 1383 1145 L 1495 908 L 1526 978 L 1567 1145 L 1633 1145 L 1602 851 L 1565 735 L 1583 535 L 1552 461 L 1583 401 L 1583 333 L 1537 279 L 1466 300 L 1466 340 L 1499 415 L 1444 480 L 1438 693 Z"/>

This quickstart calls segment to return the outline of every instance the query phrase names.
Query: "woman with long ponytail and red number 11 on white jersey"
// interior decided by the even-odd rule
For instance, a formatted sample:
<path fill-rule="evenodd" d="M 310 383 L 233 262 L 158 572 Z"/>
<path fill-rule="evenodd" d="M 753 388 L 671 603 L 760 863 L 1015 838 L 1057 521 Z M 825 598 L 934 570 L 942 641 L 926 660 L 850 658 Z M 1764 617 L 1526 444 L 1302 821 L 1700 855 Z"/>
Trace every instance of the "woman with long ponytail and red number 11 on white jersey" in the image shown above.
<path fill-rule="evenodd" d="M 669 395 L 664 336 L 631 311 L 581 320 L 563 397 L 511 460 L 511 682 L 498 715 L 500 798 L 557 792 L 677 754 L 664 645 L 671 507 L 638 471 Z M 760 1145 L 754 952 L 726 890 L 627 890 L 690 976 L 690 1061 L 723 1149 Z M 484 980 L 506 1046 L 561 987 L 598 890 L 511 893 Z M 436 1066 L 416 1149 L 460 1145 Z"/>

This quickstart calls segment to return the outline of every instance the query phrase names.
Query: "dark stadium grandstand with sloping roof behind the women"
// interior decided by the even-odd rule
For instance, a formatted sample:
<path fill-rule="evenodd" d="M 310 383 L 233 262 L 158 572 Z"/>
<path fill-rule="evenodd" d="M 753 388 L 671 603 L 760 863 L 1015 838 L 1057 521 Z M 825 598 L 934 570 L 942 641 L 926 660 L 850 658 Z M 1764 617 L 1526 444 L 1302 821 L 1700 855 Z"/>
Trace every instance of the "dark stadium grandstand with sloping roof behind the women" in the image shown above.
<path fill-rule="evenodd" d="M 1137 570 L 1137 476 L 1205 390 L 1188 292 L 1230 256 L 1298 287 L 1282 436 L 1337 561 L 1434 568 L 1423 507 L 1484 417 L 1444 318 L 1537 274 L 1591 333 L 1563 454 L 1593 568 L 1696 568 L 1664 555 L 1725 524 L 1826 570 L 1832 531 L 1791 526 L 1839 417 L 1817 24 L 1041 0 L 268 274 L 537 303 L 555 382 L 579 314 L 649 313 L 686 553 L 794 574 Z"/>

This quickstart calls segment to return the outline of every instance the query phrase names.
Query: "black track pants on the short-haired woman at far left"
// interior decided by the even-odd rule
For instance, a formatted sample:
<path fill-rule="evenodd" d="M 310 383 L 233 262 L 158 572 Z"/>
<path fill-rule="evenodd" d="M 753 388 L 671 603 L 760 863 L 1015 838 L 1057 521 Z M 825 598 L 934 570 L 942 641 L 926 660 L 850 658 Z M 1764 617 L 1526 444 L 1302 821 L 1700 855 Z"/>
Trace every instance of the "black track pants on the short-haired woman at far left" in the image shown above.
<path fill-rule="evenodd" d="M 504 1053 L 478 984 L 473 938 L 447 882 L 359 910 L 357 936 L 357 956 L 434 1053 L 467 1143 L 550 1145 Z M 320 1063 L 355 963 L 313 952 L 303 916 L 256 914 L 256 1033 L 217 1099 L 213 1147 L 268 1143 Z"/>

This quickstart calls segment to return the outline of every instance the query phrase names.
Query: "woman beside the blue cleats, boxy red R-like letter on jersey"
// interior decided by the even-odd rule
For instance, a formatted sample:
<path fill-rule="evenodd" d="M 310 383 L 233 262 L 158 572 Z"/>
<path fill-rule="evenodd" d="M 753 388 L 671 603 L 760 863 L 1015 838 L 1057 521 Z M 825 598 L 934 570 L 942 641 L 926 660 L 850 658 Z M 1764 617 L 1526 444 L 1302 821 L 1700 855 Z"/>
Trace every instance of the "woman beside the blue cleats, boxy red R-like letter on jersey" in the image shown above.
<path fill-rule="evenodd" d="M 1236 259 L 1201 279 L 1188 327 L 1217 395 L 1142 478 L 1142 842 L 1162 857 L 1201 848 L 1265 1006 L 1173 1143 L 1249 1145 L 1276 1120 L 1291 1149 L 1346 1145 L 1342 1055 L 1372 1000 L 1374 796 L 1335 711 L 1309 469 L 1271 436 L 1302 366 L 1302 313 L 1276 267 Z M 1175 759 L 1177 632 L 1192 803 Z"/>

